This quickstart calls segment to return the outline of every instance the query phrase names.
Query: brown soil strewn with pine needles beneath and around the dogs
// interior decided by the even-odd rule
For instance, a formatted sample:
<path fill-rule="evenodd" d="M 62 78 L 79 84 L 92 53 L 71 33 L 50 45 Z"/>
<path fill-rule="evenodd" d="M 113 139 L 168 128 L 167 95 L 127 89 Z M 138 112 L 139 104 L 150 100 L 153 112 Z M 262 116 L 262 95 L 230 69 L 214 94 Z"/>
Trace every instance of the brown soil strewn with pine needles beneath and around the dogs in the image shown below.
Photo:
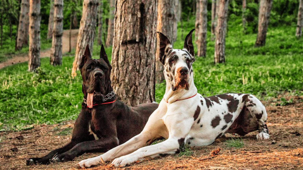
<path fill-rule="evenodd" d="M 238 136 L 227 134 L 212 145 L 190 148 L 191 154 L 187 156 L 148 159 L 125 168 L 114 168 L 108 163 L 92 169 L 303 169 L 303 96 L 283 97 L 287 100 L 293 98 L 294 102 L 288 106 L 275 106 L 275 100 L 262 102 L 268 113 L 270 140 L 258 141 L 255 139 L 257 132 L 252 132 L 242 137 L 244 146 L 237 149 L 228 147 L 227 142 L 231 137 L 237 139 Z M 21 132 L 0 132 L 0 169 L 78 169 L 75 164 L 79 161 L 100 155 L 84 154 L 72 162 L 50 165 L 25 165 L 26 159 L 43 156 L 66 144 L 71 135 L 64 136 L 64 132 L 70 132 L 72 127 L 73 122 L 69 121 L 39 125 Z M 218 147 L 221 148 L 218 155 L 211 155 L 211 151 Z"/>

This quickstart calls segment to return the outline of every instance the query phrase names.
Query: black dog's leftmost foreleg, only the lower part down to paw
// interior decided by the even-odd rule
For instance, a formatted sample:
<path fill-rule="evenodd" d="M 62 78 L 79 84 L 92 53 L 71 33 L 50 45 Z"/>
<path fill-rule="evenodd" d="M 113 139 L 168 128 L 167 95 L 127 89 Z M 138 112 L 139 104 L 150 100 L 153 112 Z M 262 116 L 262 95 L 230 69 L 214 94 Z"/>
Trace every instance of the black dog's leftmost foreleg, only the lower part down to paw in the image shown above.
<path fill-rule="evenodd" d="M 77 144 L 77 142 L 70 141 L 68 144 L 66 144 L 62 148 L 55 149 L 52 152 L 49 152 L 47 155 L 45 155 L 41 158 L 28 159 L 26 161 L 26 165 L 48 164 L 55 155 L 67 152 L 68 150 L 72 149 L 76 144 Z"/>

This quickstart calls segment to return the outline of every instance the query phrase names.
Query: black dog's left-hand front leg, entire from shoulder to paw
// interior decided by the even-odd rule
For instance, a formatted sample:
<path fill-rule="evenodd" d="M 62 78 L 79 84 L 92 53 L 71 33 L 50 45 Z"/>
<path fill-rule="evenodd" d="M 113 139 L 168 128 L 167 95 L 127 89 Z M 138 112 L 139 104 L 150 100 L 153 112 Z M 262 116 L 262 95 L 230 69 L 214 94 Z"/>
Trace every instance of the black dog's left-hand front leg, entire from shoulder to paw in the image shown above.
<path fill-rule="evenodd" d="M 72 149 L 75 145 L 80 142 L 94 140 L 95 138 L 92 135 L 89 135 L 89 123 L 92 119 L 92 115 L 90 110 L 83 108 L 75 122 L 75 126 L 72 133 L 72 140 L 66 144 L 65 146 L 55 149 L 52 152 L 41 158 L 30 158 L 26 161 L 26 165 L 32 164 L 48 164 L 51 159 L 54 158 L 55 155 L 62 154 Z"/>

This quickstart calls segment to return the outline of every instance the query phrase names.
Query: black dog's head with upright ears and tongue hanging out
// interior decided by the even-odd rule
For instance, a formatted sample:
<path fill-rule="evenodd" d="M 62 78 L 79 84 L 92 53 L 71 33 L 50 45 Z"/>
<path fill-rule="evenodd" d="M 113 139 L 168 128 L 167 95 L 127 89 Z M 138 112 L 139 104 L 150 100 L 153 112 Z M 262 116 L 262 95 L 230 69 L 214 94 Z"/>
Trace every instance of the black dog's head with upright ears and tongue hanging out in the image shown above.
<path fill-rule="evenodd" d="M 104 96 L 113 90 L 110 80 L 112 66 L 103 45 L 100 50 L 100 59 L 92 59 L 87 45 L 79 69 L 83 79 L 82 92 L 87 98 L 88 107 L 92 108 L 93 101 L 103 101 Z"/>

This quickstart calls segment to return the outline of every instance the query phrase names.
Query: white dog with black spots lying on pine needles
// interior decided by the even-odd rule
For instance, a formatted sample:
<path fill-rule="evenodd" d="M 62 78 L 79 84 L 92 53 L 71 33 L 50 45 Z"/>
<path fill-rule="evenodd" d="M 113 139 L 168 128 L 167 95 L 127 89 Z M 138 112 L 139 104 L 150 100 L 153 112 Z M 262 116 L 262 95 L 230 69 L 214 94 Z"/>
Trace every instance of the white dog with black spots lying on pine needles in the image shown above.
<path fill-rule="evenodd" d="M 158 32 L 159 59 L 165 67 L 166 80 L 158 109 L 139 135 L 103 155 L 79 162 L 79 167 L 91 167 L 112 159 L 112 165 L 123 167 L 148 157 L 174 154 L 184 145 L 210 145 L 225 133 L 244 136 L 259 130 L 257 139 L 269 139 L 265 107 L 253 95 L 235 93 L 203 98 L 197 93 L 192 71 L 193 31 L 186 36 L 182 50 L 173 49 L 168 38 Z M 161 137 L 167 140 L 150 145 Z"/>

